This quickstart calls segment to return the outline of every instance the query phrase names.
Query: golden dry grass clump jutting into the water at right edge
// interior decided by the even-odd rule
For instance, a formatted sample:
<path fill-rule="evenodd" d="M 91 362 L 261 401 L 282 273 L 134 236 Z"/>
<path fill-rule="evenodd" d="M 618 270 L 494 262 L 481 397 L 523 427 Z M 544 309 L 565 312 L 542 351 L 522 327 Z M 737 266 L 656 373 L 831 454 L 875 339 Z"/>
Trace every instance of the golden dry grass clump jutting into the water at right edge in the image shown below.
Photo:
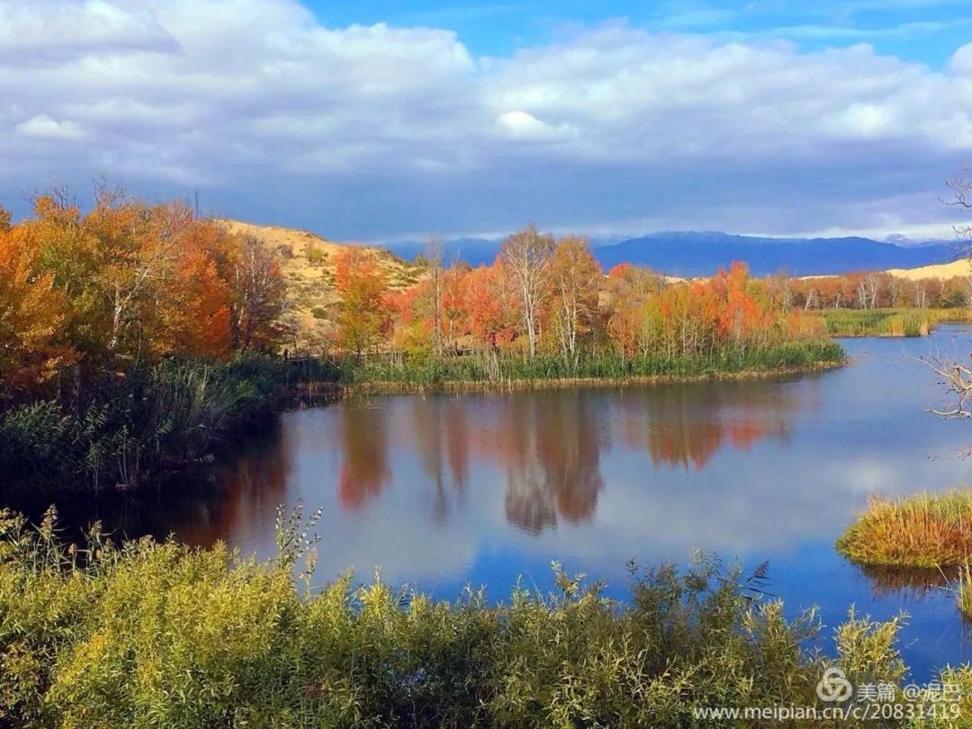
<path fill-rule="evenodd" d="M 875 499 L 837 540 L 862 565 L 948 568 L 972 555 L 972 491 Z"/>

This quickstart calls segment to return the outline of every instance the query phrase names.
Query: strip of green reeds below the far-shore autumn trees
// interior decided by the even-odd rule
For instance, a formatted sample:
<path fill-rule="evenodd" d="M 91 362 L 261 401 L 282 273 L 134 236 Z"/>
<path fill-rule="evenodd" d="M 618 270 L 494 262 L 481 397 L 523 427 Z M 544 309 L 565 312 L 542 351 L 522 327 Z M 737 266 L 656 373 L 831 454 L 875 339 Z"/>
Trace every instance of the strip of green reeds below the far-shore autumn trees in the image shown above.
<path fill-rule="evenodd" d="M 591 385 L 597 382 L 672 382 L 798 372 L 843 364 L 846 354 L 829 340 L 766 349 L 725 350 L 711 357 L 634 357 L 610 353 L 569 361 L 563 357 L 498 357 L 491 352 L 451 358 L 400 358 L 338 364 L 340 384 L 376 390 L 515 387 L 532 383 Z"/>

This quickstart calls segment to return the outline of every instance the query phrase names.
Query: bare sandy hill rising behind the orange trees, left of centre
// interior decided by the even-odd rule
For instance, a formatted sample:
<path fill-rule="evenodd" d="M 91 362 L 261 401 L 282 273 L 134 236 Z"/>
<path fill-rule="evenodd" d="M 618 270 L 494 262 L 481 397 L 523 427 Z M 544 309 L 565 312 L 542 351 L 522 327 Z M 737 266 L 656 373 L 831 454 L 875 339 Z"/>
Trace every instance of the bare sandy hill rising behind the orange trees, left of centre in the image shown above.
<path fill-rule="evenodd" d="M 253 235 L 280 256 L 287 282 L 285 318 L 295 325 L 297 345 L 318 349 L 327 342 L 334 320 L 334 259 L 348 243 L 337 243 L 307 230 L 220 221 L 231 232 Z M 393 288 L 418 280 L 418 269 L 392 253 L 372 248 Z"/>

